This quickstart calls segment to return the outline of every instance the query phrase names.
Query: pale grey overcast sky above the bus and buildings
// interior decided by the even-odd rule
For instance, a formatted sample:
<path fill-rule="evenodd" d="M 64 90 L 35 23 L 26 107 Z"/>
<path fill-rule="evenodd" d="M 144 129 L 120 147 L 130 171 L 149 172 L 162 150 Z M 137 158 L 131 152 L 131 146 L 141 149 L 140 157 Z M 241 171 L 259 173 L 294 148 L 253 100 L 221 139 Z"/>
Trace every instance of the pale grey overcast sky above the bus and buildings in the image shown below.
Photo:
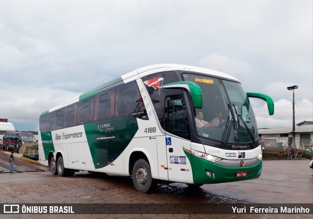
<path fill-rule="evenodd" d="M 0 118 L 37 130 L 42 112 L 139 67 L 222 71 L 252 100 L 259 128 L 313 120 L 312 0 L 1 0 Z"/>

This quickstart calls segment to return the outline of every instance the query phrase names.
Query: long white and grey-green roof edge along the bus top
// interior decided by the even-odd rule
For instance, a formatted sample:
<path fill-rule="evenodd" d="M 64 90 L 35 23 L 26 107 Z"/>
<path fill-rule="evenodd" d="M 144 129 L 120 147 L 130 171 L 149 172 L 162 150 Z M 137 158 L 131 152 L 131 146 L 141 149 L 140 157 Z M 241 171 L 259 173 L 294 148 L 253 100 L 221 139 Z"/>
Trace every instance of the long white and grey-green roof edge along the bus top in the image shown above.
<path fill-rule="evenodd" d="M 151 71 L 151 70 L 155 70 L 155 71 Z M 138 68 L 134 71 L 131 71 L 131 72 L 129 72 L 125 75 L 122 75 L 121 77 L 116 78 L 114 80 L 111 80 L 107 83 L 101 84 L 101 85 L 99 85 L 99 86 L 97 86 L 97 87 L 95 87 L 95 88 L 93 88 L 87 92 L 82 93 L 79 96 L 74 97 L 71 100 L 68 100 L 68 101 L 66 101 L 66 102 L 64 102 L 58 106 L 55 106 L 55 107 L 43 112 L 41 115 L 45 115 L 49 112 L 60 109 L 66 105 L 69 105 L 69 104 L 72 104 L 72 103 L 77 102 L 79 100 L 88 98 L 88 97 L 94 95 L 95 92 L 97 92 L 103 88 L 107 88 L 109 90 L 115 86 L 127 83 L 127 82 L 135 80 L 135 79 L 139 79 L 139 78 L 146 76 L 146 75 L 154 74 L 154 73 L 160 72 L 160 71 L 175 71 L 175 70 L 199 72 L 199 73 L 207 74 L 210 76 L 217 76 L 217 77 L 221 77 L 221 78 L 226 78 L 226 79 L 238 81 L 238 79 L 236 79 L 235 77 L 228 75 L 228 74 L 225 74 L 223 72 L 215 71 L 215 70 L 208 69 L 208 68 L 196 67 L 196 66 L 192 66 L 192 65 L 182 65 L 182 64 L 149 65 L 149 66 Z M 148 71 L 150 71 L 150 72 L 148 73 Z"/>

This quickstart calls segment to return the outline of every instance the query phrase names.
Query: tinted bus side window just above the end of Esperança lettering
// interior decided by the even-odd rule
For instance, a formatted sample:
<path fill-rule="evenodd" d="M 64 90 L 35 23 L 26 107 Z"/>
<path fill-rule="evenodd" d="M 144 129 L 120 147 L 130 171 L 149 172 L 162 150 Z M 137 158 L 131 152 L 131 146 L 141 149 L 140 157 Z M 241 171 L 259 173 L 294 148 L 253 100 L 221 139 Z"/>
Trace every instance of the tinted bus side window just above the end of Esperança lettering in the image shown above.
<path fill-rule="evenodd" d="M 77 124 L 93 121 L 93 98 L 78 102 Z"/>

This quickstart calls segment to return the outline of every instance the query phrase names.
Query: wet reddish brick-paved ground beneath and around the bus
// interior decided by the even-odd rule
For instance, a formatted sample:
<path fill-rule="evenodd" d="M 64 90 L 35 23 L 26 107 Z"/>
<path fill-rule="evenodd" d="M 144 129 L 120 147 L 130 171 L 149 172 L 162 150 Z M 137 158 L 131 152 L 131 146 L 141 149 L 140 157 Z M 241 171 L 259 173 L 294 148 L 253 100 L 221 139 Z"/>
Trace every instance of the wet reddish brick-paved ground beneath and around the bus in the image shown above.
<path fill-rule="evenodd" d="M 7 162 L 7 154 L 0 152 L 0 162 Z M 132 179 L 117 175 L 94 175 L 80 172 L 73 177 L 52 176 L 46 167 L 16 159 L 20 170 L 32 171 L 0 173 L 0 203 L 311 203 L 313 204 L 313 171 L 308 160 L 265 160 L 259 179 L 223 184 L 203 185 L 191 190 L 182 183 L 159 184 L 156 192 L 141 194 L 134 189 Z M 34 166 L 35 165 L 35 166 Z M 39 166 L 39 168 L 38 168 Z M 29 170 L 29 169 L 28 169 Z M 1 205 L 0 204 L 0 205 Z M 117 205 L 117 207 L 123 205 Z M 136 205 L 137 206 L 137 205 Z M 119 209 L 117 208 L 117 212 Z M 166 211 L 165 211 L 166 212 Z M 1 215 L 0 219 L 197 219 L 197 218 L 312 218 L 312 215 L 248 215 L 248 214 L 112 214 L 112 215 Z"/>

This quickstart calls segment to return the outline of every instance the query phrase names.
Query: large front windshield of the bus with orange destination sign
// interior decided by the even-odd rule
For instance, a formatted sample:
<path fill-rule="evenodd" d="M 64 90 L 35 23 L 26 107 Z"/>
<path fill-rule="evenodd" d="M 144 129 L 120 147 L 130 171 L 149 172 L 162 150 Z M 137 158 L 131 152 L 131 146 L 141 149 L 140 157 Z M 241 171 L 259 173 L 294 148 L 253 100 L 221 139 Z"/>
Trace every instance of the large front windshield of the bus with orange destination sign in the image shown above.
<path fill-rule="evenodd" d="M 196 109 L 196 130 L 201 138 L 226 144 L 255 144 L 256 120 L 246 92 L 239 82 L 183 74 L 202 91 L 202 109 Z"/>

